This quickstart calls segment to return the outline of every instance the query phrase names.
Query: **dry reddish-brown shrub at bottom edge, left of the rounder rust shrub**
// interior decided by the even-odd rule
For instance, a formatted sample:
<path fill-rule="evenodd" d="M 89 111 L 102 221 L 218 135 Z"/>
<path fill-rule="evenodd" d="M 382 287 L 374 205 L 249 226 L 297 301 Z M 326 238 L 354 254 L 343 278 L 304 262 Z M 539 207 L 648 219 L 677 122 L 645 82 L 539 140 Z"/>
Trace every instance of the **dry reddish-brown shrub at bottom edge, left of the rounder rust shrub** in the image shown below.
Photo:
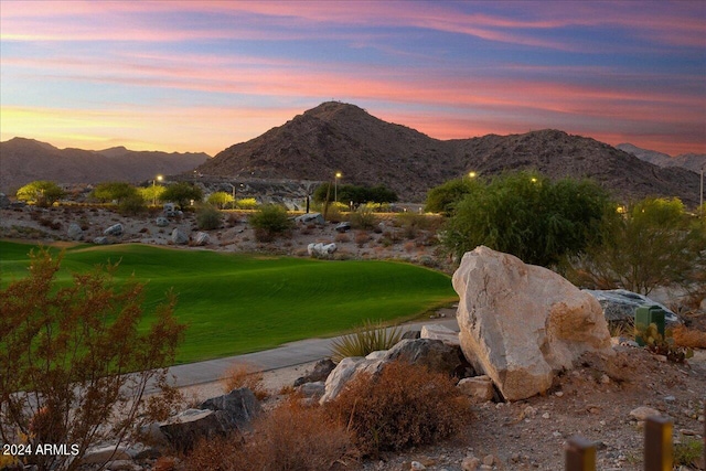
<path fill-rule="evenodd" d="M 201 441 L 185 464 L 190 471 L 325 471 L 355 458 L 345 426 L 295 397 L 256 420 L 245 438 Z"/>

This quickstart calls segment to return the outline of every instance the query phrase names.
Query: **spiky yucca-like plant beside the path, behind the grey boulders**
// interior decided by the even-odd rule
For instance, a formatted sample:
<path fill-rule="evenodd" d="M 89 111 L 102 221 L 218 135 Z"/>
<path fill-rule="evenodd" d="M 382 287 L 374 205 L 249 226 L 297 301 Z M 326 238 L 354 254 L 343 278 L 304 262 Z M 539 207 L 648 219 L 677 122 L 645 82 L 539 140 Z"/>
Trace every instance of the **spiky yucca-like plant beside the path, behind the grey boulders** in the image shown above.
<path fill-rule="evenodd" d="M 378 350 L 389 350 L 402 339 L 399 325 L 386 327 L 383 321 L 366 320 L 353 333 L 331 343 L 331 360 L 339 363 L 349 356 L 366 356 Z"/>

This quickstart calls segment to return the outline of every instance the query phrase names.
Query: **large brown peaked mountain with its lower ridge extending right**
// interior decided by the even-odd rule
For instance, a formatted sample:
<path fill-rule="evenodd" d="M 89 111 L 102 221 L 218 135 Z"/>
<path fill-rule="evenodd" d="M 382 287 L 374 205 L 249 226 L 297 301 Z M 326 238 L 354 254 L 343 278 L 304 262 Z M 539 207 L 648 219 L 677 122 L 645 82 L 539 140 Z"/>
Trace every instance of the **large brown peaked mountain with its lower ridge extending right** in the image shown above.
<path fill-rule="evenodd" d="M 404 201 L 473 170 L 483 175 L 535 169 L 552 178 L 588 176 L 622 200 L 646 195 L 698 201 L 698 175 L 662 169 L 606 143 L 558 130 L 438 140 L 383 121 L 354 105 L 328 101 L 197 168 L 204 178 L 289 179 L 385 184 Z"/>

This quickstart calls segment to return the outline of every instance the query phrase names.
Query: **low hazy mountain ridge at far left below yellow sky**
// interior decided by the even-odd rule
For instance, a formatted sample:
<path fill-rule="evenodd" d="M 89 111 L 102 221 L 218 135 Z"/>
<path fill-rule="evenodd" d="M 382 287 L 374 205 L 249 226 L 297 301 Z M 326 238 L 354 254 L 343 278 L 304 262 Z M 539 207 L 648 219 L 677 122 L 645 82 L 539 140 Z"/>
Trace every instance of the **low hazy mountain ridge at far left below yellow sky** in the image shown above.
<path fill-rule="evenodd" d="M 0 142 L 0 191 L 14 192 L 34 180 L 57 183 L 138 182 L 193 170 L 205 153 L 131 151 L 124 147 L 92 151 L 57 149 L 33 139 Z"/>

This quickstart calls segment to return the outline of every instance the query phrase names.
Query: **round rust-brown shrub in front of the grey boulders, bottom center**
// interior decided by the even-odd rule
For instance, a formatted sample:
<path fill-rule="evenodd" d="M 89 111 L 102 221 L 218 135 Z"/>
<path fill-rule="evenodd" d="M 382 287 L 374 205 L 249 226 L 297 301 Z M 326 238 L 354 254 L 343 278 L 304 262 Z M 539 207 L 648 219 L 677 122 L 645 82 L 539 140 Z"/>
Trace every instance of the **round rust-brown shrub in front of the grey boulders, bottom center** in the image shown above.
<path fill-rule="evenodd" d="M 406 362 L 392 362 L 375 376 L 357 375 L 325 409 L 346 424 L 365 456 L 451 438 L 471 420 L 468 398 L 453 379 Z"/>

